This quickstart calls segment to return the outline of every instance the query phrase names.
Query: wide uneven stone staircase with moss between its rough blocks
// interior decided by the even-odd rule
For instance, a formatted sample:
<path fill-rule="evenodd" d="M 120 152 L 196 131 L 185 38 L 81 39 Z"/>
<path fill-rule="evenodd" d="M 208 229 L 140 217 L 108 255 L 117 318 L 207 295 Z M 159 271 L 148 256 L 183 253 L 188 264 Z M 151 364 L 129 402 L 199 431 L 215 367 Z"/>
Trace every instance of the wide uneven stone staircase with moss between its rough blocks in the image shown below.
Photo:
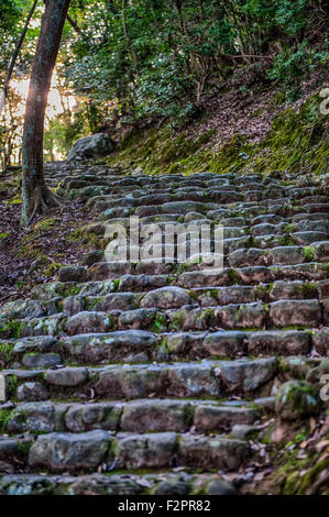
<path fill-rule="evenodd" d="M 46 175 L 95 222 L 80 266 L 0 308 L 0 494 L 237 493 L 278 387 L 328 367 L 328 177 Z M 132 215 L 220 221 L 222 273 L 106 262 Z"/>

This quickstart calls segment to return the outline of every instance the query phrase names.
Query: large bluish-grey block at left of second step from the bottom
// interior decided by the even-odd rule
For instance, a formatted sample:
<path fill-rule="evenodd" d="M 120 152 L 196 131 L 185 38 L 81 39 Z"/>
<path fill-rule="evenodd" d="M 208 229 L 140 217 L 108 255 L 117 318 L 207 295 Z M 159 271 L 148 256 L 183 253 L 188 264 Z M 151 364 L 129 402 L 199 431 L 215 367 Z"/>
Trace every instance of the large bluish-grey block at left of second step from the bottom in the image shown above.
<path fill-rule="evenodd" d="M 30 449 L 29 465 L 54 471 L 96 469 L 107 459 L 110 435 L 100 430 L 40 436 Z"/>

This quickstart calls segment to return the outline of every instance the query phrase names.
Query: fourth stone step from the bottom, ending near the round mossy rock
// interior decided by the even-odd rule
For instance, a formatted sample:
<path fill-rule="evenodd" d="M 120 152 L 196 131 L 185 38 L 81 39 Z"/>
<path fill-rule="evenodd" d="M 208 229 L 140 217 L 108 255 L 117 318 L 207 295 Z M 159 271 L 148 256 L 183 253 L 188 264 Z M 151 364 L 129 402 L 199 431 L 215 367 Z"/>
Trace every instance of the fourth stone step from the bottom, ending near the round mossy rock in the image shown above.
<path fill-rule="evenodd" d="M 278 372 L 276 358 L 153 363 L 123 366 L 68 366 L 56 370 L 2 370 L 7 399 L 20 402 L 107 397 L 200 398 L 267 396 Z"/>

